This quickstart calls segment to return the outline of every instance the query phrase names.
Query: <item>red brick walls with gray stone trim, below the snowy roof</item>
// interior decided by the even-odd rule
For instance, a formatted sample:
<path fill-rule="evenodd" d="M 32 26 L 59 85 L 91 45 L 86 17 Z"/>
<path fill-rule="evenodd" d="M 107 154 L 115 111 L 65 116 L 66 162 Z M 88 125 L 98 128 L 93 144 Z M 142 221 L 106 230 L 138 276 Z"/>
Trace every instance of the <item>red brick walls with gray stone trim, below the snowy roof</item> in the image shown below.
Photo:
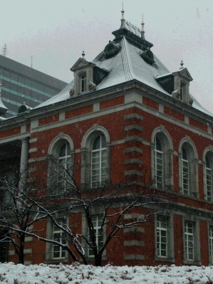
<path fill-rule="evenodd" d="M 44 105 L 33 112 L 2 121 L 0 150 L 1 145 L 8 144 L 10 147 L 12 142 L 28 137 L 28 162 L 30 166 L 35 166 L 33 171 L 29 172 L 28 179 L 41 179 L 47 177 L 48 168 L 44 163 L 39 166 L 36 163 L 51 154 L 50 145 L 56 137 L 60 140 L 60 135 L 66 135 L 73 142 L 73 161 L 79 166 L 75 179 L 77 184 L 81 184 L 83 140 L 89 130 L 95 133 L 95 129 L 100 129 L 98 133 L 103 133 L 101 129 L 105 129 L 109 136 L 107 147 L 110 149 L 110 183 L 132 182 L 134 179 L 142 188 L 142 182 L 149 183 L 153 177 L 156 178 L 153 162 L 155 139 L 162 137 L 162 147 L 166 147 L 170 142 L 170 146 L 162 152 L 165 151 L 167 157 L 170 157 L 171 162 L 166 166 L 170 169 L 165 171 L 170 170 L 171 174 L 165 178 L 166 182 L 162 188 L 157 187 L 155 182 L 150 190 L 165 192 L 169 196 L 170 211 L 152 216 L 130 231 L 121 230 L 117 238 L 107 246 L 103 264 L 209 265 L 212 258 L 209 256 L 208 232 L 209 226 L 213 224 L 213 200 L 207 198 L 205 155 L 209 153 L 209 159 L 212 159 L 212 127 L 212 116 L 194 110 L 176 98 L 170 97 L 168 100 L 164 93 L 156 90 L 153 92 L 152 88 L 132 80 L 100 91 L 95 90 L 87 95 L 78 95 L 61 101 L 58 105 Z M 182 145 L 185 145 L 188 151 L 189 168 L 192 172 L 189 177 L 189 194 L 182 184 Z M 212 190 L 212 184 L 210 188 Z M 136 218 L 134 214 L 147 216 L 153 210 L 134 209 L 123 216 L 123 221 Z M 157 216 L 167 219 L 166 257 L 157 253 L 157 220 L 160 220 Z M 68 222 L 71 225 L 73 219 L 78 220 L 77 229 L 81 231 L 82 218 L 82 214 L 78 212 L 75 216 L 72 215 Z M 33 226 L 37 230 L 43 230 L 41 236 L 46 236 L 48 225 L 45 221 L 39 221 Z M 194 256 L 191 260 L 186 257 L 186 249 L 190 246 L 185 244 L 186 226 L 192 226 L 193 231 Z M 72 261 L 68 257 L 60 260 L 48 258 L 48 245 L 31 237 L 27 238 L 25 254 L 26 264 Z M 17 262 L 12 246 L 9 248 L 9 261 Z"/>

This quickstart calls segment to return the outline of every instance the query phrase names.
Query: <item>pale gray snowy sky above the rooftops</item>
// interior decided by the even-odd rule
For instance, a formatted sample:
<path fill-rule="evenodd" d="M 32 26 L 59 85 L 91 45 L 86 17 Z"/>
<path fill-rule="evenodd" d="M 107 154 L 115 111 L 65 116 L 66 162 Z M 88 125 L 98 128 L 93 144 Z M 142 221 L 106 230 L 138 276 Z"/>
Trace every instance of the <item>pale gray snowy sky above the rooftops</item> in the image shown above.
<path fill-rule="evenodd" d="M 0 48 L 7 57 L 69 83 L 85 51 L 92 61 L 120 27 L 122 0 L 0 0 Z M 184 61 L 190 92 L 213 112 L 213 1 L 124 0 L 125 20 L 138 28 L 170 71 Z M 1 52 L 0 49 L 0 52 Z M 2 54 L 2 53 L 1 53 Z"/>

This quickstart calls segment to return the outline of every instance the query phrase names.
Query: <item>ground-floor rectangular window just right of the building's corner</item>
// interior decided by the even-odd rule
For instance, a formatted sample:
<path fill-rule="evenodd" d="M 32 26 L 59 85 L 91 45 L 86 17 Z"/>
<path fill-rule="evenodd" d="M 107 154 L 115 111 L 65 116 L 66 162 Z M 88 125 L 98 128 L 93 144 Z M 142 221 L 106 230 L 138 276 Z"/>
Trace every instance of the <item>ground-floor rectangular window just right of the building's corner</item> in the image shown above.
<path fill-rule="evenodd" d="M 157 216 L 157 256 L 167 258 L 167 218 Z"/>

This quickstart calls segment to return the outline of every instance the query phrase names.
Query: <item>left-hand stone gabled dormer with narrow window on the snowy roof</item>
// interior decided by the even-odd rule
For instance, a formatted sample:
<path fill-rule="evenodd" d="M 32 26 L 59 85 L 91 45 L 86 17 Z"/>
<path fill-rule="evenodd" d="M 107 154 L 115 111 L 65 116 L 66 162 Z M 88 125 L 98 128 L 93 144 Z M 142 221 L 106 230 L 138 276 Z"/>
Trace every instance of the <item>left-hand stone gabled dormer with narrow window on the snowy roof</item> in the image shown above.
<path fill-rule="evenodd" d="M 94 67 L 94 63 L 88 62 L 84 58 L 79 58 L 73 65 L 71 71 L 74 73 L 74 86 L 70 90 L 72 97 L 96 90 L 96 85 L 93 83 Z"/>

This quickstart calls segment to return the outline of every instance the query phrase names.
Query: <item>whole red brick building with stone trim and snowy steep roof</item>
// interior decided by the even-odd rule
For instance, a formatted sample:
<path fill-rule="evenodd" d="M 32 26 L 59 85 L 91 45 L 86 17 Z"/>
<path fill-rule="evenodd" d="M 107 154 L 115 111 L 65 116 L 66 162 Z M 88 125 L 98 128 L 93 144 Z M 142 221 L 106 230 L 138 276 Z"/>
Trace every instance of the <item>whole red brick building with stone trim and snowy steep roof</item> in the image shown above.
<path fill-rule="evenodd" d="M 138 181 L 147 169 L 146 178 L 155 180 L 152 189 L 172 196 L 172 210 L 135 227 L 134 234 L 120 231 L 106 248 L 103 263 L 209 265 L 213 262 L 212 114 L 189 93 L 192 77 L 187 68 L 181 63 L 175 72 L 167 70 L 150 50 L 152 43 L 143 31 L 122 20 L 113 35 L 114 41 L 93 62 L 78 59 L 71 68 L 74 80 L 61 93 L 0 122 L 5 165 L 1 172 L 11 161 L 21 164 L 23 171 L 27 164 L 50 155 L 58 161 L 72 156 L 74 164 L 86 161 L 76 181 L 90 181 L 93 188 L 105 179 L 112 184 L 128 178 Z M 35 167 L 28 178 L 39 173 L 47 176 L 48 169 Z M 147 209 L 137 209 L 124 219 L 134 219 L 135 214 L 144 216 Z M 98 221 L 98 216 L 94 218 Z M 50 238 L 57 233 L 50 223 L 35 226 L 45 228 Z M 71 262 L 63 249 L 57 249 L 28 236 L 26 264 Z M 90 251 L 87 254 L 90 257 Z M 10 246 L 9 261 L 14 260 Z"/>

